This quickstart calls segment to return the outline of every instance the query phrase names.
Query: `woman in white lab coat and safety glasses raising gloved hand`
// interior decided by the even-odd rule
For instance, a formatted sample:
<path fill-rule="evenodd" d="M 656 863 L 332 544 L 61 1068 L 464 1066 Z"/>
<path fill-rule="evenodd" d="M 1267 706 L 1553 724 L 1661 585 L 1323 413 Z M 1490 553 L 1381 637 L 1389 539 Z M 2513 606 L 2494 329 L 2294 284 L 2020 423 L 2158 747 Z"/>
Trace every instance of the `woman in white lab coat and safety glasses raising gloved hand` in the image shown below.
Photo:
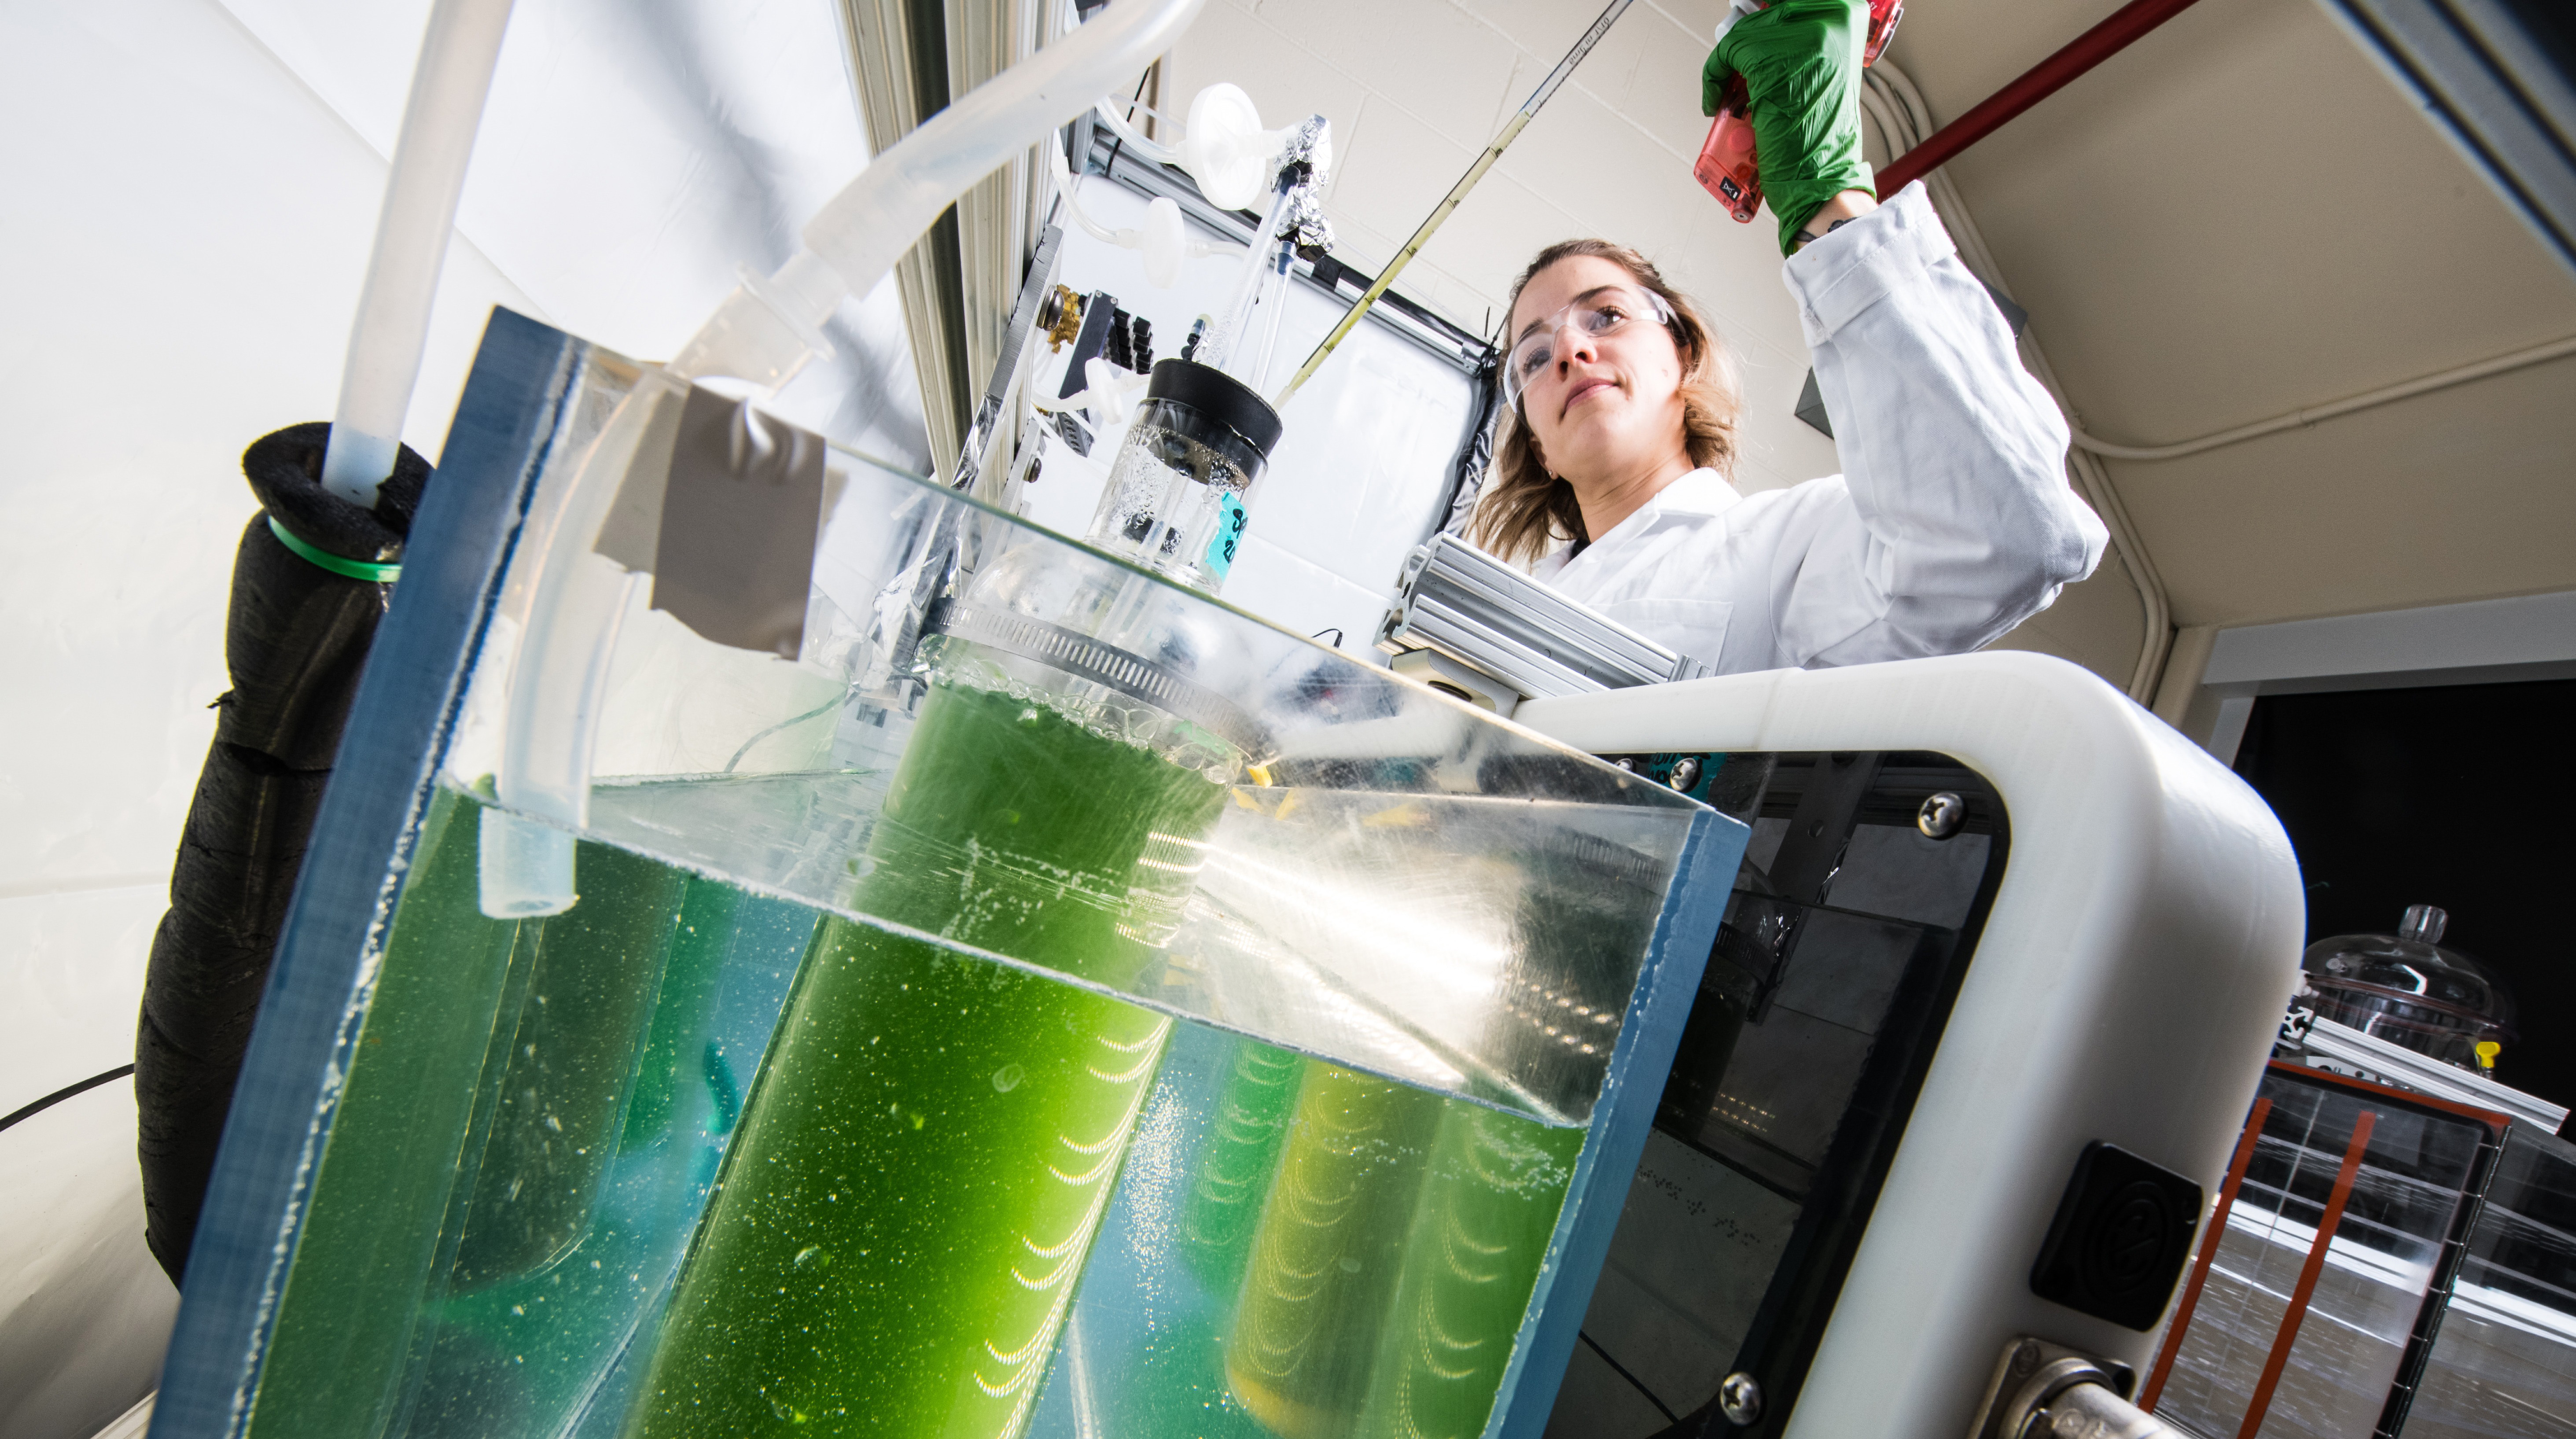
<path fill-rule="evenodd" d="M 1512 291 L 1512 409 L 1471 538 L 1721 674 L 1978 649 L 2107 541 L 2066 484 L 2066 422 L 1924 188 L 1870 198 L 1855 18 L 1857 0 L 1783 0 L 1710 57 L 1710 90 L 1734 70 L 1752 88 L 1844 474 L 1728 484 L 1734 360 L 1636 250 L 1551 245 Z"/>

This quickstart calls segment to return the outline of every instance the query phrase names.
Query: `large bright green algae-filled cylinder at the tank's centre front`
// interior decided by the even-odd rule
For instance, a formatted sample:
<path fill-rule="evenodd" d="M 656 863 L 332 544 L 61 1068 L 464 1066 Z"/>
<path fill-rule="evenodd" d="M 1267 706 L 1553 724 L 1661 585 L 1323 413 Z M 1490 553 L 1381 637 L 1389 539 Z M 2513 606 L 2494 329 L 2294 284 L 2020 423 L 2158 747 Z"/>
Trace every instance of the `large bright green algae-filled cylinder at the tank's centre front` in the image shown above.
<path fill-rule="evenodd" d="M 943 680 L 855 906 L 1123 986 L 1224 793 L 1046 698 Z M 1072 983 L 827 922 L 629 1434 L 1020 1434 L 1167 1032 Z"/>

